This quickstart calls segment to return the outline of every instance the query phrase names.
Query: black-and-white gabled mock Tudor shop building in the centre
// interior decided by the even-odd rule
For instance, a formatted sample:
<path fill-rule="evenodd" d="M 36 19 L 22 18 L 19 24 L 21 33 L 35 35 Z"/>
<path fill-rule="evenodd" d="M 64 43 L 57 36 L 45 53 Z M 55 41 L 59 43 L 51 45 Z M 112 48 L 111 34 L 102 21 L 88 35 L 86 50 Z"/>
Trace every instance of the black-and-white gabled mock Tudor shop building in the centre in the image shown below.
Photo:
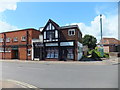
<path fill-rule="evenodd" d="M 40 40 L 33 40 L 33 60 L 76 61 L 82 57 L 82 33 L 77 25 L 60 27 L 49 19 Z"/>

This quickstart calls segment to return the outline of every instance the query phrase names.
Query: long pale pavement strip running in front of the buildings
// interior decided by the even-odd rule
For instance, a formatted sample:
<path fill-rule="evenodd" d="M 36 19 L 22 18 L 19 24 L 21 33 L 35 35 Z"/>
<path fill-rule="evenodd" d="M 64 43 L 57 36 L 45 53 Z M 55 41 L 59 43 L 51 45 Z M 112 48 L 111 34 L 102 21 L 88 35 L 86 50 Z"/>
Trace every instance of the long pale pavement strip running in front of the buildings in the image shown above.
<path fill-rule="evenodd" d="M 43 64 L 81 64 L 81 65 L 112 65 L 119 64 L 120 57 L 111 57 L 109 59 L 103 58 L 102 61 L 32 61 L 32 60 L 17 60 L 17 59 L 6 59 L 0 60 L 2 62 L 23 62 L 23 63 L 43 63 Z"/>

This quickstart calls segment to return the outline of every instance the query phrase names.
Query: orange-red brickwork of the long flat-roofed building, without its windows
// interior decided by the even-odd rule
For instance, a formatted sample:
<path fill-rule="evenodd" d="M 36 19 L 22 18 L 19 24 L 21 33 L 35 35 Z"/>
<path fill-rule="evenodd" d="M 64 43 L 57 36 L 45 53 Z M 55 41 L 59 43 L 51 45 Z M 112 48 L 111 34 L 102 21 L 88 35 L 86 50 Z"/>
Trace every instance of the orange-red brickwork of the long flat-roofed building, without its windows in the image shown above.
<path fill-rule="evenodd" d="M 34 29 L 27 29 L 28 30 L 28 44 L 31 45 L 32 44 L 32 39 L 38 39 L 39 35 L 40 35 L 40 31 L 38 30 L 34 30 Z M 27 30 L 19 30 L 19 31 L 13 31 L 13 32 L 6 32 L 6 38 L 10 38 L 10 42 L 6 42 L 6 48 L 8 47 L 8 45 L 18 45 L 18 54 L 19 54 L 19 59 L 21 60 L 25 60 L 26 59 L 26 53 L 27 53 L 27 48 L 26 48 L 26 41 L 22 41 L 22 36 L 26 36 L 27 35 Z M 0 33 L 0 38 L 4 38 L 4 33 Z M 14 42 L 13 38 L 17 37 L 18 41 Z M 0 43 L 0 46 L 2 46 L 3 43 Z M 24 46 L 19 46 L 19 45 L 24 45 Z M 28 47 L 28 49 L 31 49 L 31 46 Z M 12 58 L 12 54 L 13 52 L 9 52 L 6 53 L 6 57 L 7 59 L 11 59 Z M 0 55 L 2 56 L 2 53 L 0 53 Z M 2 58 L 0 56 L 0 58 Z M 28 56 L 28 59 L 31 60 L 31 56 Z"/>

